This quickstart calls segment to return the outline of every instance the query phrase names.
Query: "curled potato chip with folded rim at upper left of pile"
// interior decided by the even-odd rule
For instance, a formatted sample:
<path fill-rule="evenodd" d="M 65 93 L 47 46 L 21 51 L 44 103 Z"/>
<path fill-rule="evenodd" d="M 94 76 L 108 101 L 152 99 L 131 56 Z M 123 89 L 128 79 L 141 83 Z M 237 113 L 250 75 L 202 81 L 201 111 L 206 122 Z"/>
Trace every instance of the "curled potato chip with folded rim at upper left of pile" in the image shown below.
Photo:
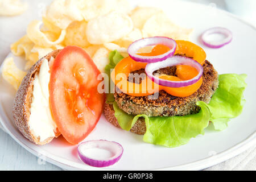
<path fill-rule="evenodd" d="M 44 47 L 51 47 L 54 44 L 60 44 L 61 42 L 63 42 L 66 34 L 65 30 L 61 30 L 59 38 L 55 38 L 55 34 L 53 32 L 51 35 L 49 35 L 49 31 L 40 31 L 40 25 L 42 23 L 43 22 L 39 20 L 33 20 L 30 24 L 28 24 L 27 36 L 30 40 L 32 40 L 32 42 L 34 42 L 37 46 Z M 57 40 L 53 41 L 53 39 Z"/>

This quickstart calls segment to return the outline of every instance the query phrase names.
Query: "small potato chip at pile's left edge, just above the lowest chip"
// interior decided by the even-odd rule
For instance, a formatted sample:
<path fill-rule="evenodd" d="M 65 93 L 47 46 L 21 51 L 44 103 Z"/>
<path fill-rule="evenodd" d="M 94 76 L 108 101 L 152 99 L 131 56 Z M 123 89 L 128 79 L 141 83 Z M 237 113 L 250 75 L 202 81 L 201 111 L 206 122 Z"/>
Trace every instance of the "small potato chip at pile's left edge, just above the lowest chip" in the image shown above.
<path fill-rule="evenodd" d="M 30 55 L 31 49 L 34 47 L 34 43 L 28 39 L 27 35 L 24 35 L 17 42 L 11 44 L 11 52 L 15 56 L 21 56 L 25 54 L 25 58 L 28 59 L 28 55 Z"/>

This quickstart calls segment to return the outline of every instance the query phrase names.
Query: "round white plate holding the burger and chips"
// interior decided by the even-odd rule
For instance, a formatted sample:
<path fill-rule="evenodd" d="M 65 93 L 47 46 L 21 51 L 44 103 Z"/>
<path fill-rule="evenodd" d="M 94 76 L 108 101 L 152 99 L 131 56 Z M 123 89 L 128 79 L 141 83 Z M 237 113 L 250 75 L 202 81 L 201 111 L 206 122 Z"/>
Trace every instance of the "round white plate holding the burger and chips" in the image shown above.
<path fill-rule="evenodd" d="M 135 5 L 136 1 L 131 1 Z M 228 129 L 218 132 L 209 126 L 205 135 L 197 136 L 188 144 L 177 148 L 166 148 L 144 143 L 141 135 L 117 129 L 102 115 L 98 125 L 85 139 L 107 139 L 121 143 L 124 152 L 121 160 L 113 166 L 94 168 L 81 162 L 77 156 L 77 146 L 65 142 L 63 137 L 54 139 L 45 146 L 29 142 L 14 125 L 12 106 L 14 89 L 0 77 L 0 116 L 1 123 L 16 142 L 32 154 L 41 156 L 48 162 L 64 169 L 203 169 L 240 154 L 255 145 L 255 67 L 256 30 L 236 16 L 225 11 L 189 2 L 139 1 L 143 6 L 161 7 L 170 18 L 184 27 L 194 28 L 192 42 L 199 44 L 207 52 L 207 59 L 218 73 L 246 73 L 246 105 L 243 113 L 229 122 Z M 222 26 L 233 32 L 230 44 L 220 49 L 204 47 L 199 42 L 201 32 L 209 27 Z M 10 55 L 9 56 L 13 56 Z M 15 57 L 16 63 L 23 59 Z"/>

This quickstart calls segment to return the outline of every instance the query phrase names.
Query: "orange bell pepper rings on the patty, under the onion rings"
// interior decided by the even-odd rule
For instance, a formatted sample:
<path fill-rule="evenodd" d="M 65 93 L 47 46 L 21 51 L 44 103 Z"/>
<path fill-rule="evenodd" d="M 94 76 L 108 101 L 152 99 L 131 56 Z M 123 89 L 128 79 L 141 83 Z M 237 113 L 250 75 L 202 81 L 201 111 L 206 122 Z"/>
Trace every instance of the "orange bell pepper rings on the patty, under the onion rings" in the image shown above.
<path fill-rule="evenodd" d="M 177 48 L 175 54 L 185 55 L 187 57 L 196 57 L 196 61 L 200 64 L 204 64 L 205 52 L 196 44 L 193 44 L 184 40 L 177 40 Z M 163 45 L 155 46 L 150 53 L 140 53 L 144 56 L 156 56 L 166 53 L 170 48 Z M 201 55 L 198 55 L 201 54 Z M 203 78 L 201 77 L 199 81 L 195 84 L 184 86 L 180 88 L 171 88 L 167 86 L 158 85 L 151 81 L 145 74 L 144 79 L 140 83 L 134 83 L 128 81 L 129 74 L 131 72 L 137 71 L 139 69 L 144 69 L 147 63 L 140 63 L 131 59 L 130 56 L 122 59 L 116 66 L 114 71 L 111 73 L 112 81 L 115 85 L 125 94 L 130 96 L 148 96 L 153 93 L 159 92 L 159 90 L 165 90 L 167 93 L 176 97 L 187 97 L 191 96 L 196 92 L 203 83 Z M 187 65 L 177 65 L 176 76 L 170 75 L 160 75 L 159 78 L 170 81 L 182 81 L 189 80 L 195 77 L 198 72 L 195 68 L 189 67 Z M 143 76 L 141 76 L 142 78 Z"/>

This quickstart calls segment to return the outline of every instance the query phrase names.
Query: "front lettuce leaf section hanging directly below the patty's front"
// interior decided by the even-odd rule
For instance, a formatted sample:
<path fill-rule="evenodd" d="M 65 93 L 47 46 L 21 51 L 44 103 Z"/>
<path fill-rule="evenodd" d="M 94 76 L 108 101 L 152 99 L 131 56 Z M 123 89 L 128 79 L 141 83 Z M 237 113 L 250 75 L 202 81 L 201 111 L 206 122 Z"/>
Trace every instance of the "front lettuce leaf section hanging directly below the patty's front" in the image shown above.
<path fill-rule="evenodd" d="M 192 137 L 204 134 L 209 123 L 209 110 L 198 104 L 201 110 L 197 114 L 174 117 L 148 117 L 144 142 L 160 144 L 166 147 L 178 147 L 189 142 Z"/>

